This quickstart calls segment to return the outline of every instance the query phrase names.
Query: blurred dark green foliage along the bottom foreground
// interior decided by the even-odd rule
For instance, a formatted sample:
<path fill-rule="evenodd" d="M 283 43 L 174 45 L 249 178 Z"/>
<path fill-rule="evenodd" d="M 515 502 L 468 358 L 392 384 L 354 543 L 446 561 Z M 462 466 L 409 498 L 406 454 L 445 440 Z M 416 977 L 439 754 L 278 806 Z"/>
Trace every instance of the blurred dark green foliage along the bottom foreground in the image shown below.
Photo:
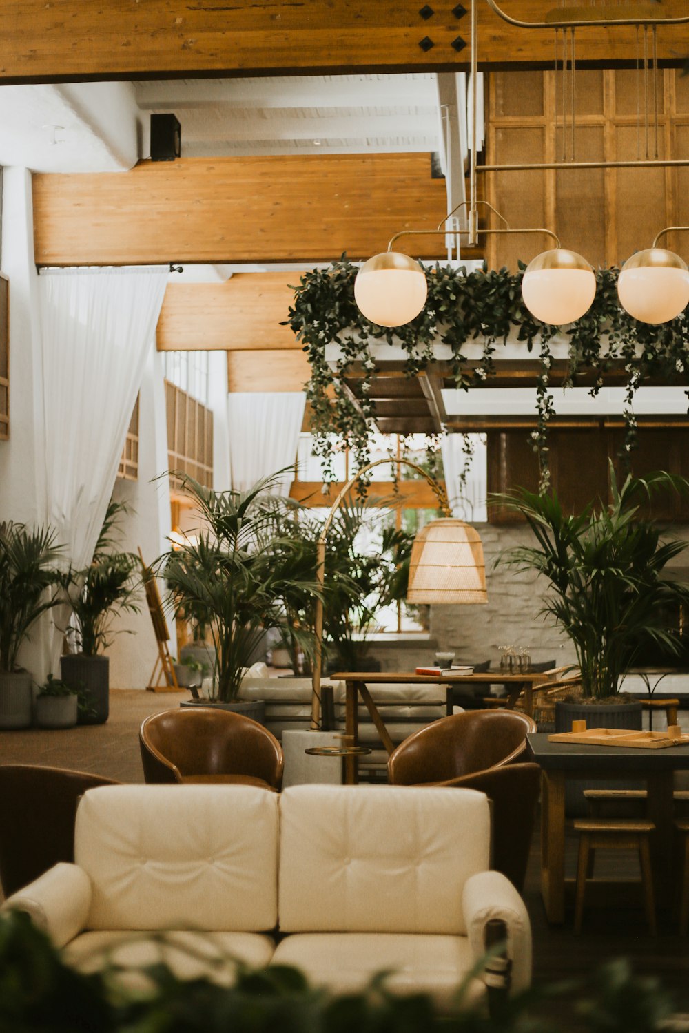
<path fill-rule="evenodd" d="M 657 980 L 612 962 L 586 987 L 529 991 L 507 1002 L 500 1019 L 474 1011 L 440 1015 L 424 995 L 396 998 L 384 979 L 366 993 L 328 997 L 295 969 L 242 971 L 234 987 L 181 981 L 163 965 L 147 970 L 151 992 L 108 989 L 106 975 L 82 975 L 20 912 L 0 916 L 0 1033 L 655 1033 L 680 1029 Z M 576 1007 L 553 998 L 564 991 Z M 539 1019 L 547 1007 L 557 1020 Z M 563 1015 L 567 1013 L 567 1022 Z"/>

